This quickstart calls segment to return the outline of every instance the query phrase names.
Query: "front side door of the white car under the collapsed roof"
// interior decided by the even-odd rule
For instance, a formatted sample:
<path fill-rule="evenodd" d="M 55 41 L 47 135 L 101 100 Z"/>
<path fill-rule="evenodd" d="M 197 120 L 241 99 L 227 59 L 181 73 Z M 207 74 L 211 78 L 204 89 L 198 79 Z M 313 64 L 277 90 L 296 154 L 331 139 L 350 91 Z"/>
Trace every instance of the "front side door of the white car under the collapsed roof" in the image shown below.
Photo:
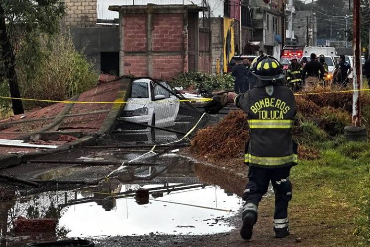
<path fill-rule="evenodd" d="M 156 99 L 156 96 L 162 95 L 161 99 Z M 164 98 L 163 98 L 164 96 Z M 171 116 L 170 93 L 155 83 L 153 89 L 153 104 L 155 114 L 155 125 L 158 127 L 168 126 Z"/>

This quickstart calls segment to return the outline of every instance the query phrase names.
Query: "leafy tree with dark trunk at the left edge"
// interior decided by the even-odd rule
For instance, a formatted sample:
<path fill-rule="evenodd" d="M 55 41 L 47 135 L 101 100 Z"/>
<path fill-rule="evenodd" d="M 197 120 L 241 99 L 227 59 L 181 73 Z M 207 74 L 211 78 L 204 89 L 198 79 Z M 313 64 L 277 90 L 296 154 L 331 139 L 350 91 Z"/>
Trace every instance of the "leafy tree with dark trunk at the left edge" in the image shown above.
<path fill-rule="evenodd" d="M 65 14 L 63 0 L 1 0 L 0 1 L 0 62 L 2 81 L 10 87 L 10 95 L 20 98 L 16 64 L 16 41 L 23 39 L 37 49 L 40 33 L 59 32 L 60 18 Z M 12 99 L 14 114 L 24 112 L 21 100 Z"/>

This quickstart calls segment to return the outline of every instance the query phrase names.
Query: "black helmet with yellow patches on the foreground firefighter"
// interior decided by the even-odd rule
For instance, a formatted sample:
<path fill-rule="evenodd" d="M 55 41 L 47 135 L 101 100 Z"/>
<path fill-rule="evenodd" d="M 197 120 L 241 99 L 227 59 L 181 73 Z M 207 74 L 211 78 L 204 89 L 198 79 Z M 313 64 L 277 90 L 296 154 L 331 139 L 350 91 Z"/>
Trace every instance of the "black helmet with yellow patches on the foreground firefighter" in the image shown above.
<path fill-rule="evenodd" d="M 253 74 L 261 81 L 276 81 L 285 78 L 279 61 L 272 56 L 263 56 L 253 65 Z"/>

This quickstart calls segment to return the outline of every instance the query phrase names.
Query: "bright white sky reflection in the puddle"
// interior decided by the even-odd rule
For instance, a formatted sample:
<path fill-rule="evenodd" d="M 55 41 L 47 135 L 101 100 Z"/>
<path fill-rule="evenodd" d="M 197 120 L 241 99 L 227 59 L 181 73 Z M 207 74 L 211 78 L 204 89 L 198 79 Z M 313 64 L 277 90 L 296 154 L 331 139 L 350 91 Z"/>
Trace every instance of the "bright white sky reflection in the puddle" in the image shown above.
<path fill-rule="evenodd" d="M 173 185 L 176 184 L 169 184 Z M 153 186 L 161 185 L 142 188 Z M 232 229 L 226 219 L 235 215 L 241 203 L 237 196 L 214 186 L 157 196 L 150 195 L 148 203 L 142 205 L 128 197 L 108 201 L 95 199 L 69 206 L 59 225 L 70 231 L 68 237 L 221 233 Z M 78 193 L 77 200 L 82 198 Z"/>

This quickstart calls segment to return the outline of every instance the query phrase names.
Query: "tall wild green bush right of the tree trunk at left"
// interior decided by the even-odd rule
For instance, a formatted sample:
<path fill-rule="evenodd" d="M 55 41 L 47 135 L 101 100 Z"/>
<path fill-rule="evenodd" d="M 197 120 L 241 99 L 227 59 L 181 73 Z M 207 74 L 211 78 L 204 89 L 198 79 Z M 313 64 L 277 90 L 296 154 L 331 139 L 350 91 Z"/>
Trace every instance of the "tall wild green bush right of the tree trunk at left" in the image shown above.
<path fill-rule="evenodd" d="M 74 50 L 70 35 L 38 36 L 39 46 L 22 45 L 16 71 L 24 98 L 64 100 L 96 85 L 98 73 Z M 25 108 L 48 103 L 24 101 Z"/>

